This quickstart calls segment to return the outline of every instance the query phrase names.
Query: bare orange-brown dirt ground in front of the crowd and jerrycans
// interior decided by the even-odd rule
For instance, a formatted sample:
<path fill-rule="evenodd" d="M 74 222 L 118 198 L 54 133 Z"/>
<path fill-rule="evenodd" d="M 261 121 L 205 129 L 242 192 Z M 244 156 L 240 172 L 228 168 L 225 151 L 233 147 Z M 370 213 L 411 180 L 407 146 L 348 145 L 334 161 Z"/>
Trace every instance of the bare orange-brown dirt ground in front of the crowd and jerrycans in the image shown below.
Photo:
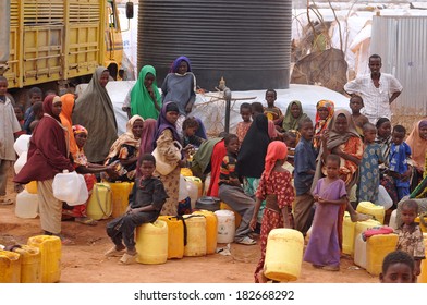
<path fill-rule="evenodd" d="M 8 197 L 15 198 L 11 180 Z M 41 234 L 39 219 L 20 219 L 15 205 L 0 206 L 0 244 L 25 244 L 28 237 Z M 259 245 L 231 244 L 231 255 L 212 254 L 204 257 L 171 259 L 162 265 L 134 264 L 123 266 L 119 258 L 106 258 L 111 247 L 105 227 L 64 221 L 62 232 L 74 244 L 62 247 L 61 280 L 63 283 L 251 283 L 259 259 Z M 219 244 L 219 247 L 225 246 Z M 343 256 L 338 272 L 315 269 L 303 263 L 297 283 L 377 283 L 378 278 L 358 269 L 353 259 Z"/>

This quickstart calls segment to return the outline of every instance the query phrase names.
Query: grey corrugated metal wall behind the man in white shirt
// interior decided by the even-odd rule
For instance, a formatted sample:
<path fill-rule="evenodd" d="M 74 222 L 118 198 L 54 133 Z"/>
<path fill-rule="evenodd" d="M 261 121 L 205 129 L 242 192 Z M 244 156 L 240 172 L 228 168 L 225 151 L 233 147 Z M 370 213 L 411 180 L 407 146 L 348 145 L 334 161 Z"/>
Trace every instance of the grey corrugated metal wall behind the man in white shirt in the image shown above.
<path fill-rule="evenodd" d="M 427 16 L 374 16 L 370 53 L 403 85 L 393 114 L 427 115 Z"/>

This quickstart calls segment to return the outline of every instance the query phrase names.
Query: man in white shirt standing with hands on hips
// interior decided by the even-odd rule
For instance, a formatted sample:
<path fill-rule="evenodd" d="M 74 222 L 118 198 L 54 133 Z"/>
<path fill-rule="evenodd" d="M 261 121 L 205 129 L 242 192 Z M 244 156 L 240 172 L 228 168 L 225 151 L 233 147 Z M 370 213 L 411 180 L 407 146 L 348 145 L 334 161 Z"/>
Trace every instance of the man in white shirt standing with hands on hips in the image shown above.
<path fill-rule="evenodd" d="M 380 73 L 381 58 L 378 54 L 369 57 L 370 74 L 366 74 L 349 82 L 344 90 L 353 96 L 363 98 L 365 108 L 362 113 L 375 124 L 379 118 L 391 119 L 390 105 L 402 93 L 401 83 L 391 74 Z"/>

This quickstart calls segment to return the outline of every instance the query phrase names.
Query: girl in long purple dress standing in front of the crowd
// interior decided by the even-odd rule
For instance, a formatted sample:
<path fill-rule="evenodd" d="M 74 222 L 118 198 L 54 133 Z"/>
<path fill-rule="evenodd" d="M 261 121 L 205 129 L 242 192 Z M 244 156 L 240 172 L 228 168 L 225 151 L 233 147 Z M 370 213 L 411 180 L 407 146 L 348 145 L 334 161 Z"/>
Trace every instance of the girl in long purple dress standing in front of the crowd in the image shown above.
<path fill-rule="evenodd" d="M 340 206 L 347 202 L 345 183 L 339 178 L 340 157 L 328 155 L 326 171 L 326 178 L 318 180 L 313 191 L 316 212 L 304 260 L 315 268 L 339 271 L 341 251 L 337 223 Z"/>

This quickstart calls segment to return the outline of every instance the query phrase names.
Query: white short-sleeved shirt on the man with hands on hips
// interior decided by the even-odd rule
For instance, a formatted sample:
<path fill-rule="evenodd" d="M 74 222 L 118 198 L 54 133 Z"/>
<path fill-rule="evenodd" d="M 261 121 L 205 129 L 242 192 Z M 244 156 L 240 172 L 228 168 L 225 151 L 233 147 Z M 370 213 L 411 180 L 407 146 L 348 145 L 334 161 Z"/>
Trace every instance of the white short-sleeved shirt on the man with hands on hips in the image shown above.
<path fill-rule="evenodd" d="M 373 124 L 375 124 L 379 118 L 391 119 L 389 99 L 394 93 L 402 91 L 402 88 L 401 83 L 399 83 L 393 75 L 387 73 L 381 73 L 378 88 L 374 85 L 370 74 L 356 77 L 344 86 L 346 93 L 362 96 L 365 105 L 362 109 L 362 113 L 365 114 Z"/>

